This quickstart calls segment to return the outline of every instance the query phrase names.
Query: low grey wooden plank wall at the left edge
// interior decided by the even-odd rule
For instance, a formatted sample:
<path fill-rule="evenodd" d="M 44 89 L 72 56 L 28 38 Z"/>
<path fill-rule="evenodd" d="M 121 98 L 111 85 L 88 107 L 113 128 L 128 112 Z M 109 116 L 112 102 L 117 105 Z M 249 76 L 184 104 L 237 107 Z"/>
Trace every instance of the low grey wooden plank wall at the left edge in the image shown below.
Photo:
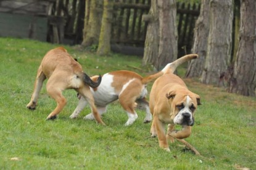
<path fill-rule="evenodd" d="M 46 41 L 47 18 L 0 12 L 0 36 Z"/>

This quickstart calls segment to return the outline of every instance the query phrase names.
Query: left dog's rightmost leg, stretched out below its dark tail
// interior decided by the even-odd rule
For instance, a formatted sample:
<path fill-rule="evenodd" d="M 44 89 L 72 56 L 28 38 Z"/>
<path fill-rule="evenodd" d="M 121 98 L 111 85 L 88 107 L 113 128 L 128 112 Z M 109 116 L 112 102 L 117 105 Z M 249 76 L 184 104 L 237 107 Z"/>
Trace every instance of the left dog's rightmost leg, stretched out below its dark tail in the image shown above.
<path fill-rule="evenodd" d="M 77 91 L 88 102 L 91 108 L 91 112 L 93 113 L 93 117 L 96 119 L 97 123 L 101 123 L 102 125 L 105 125 L 105 123 L 101 120 L 101 116 L 99 115 L 99 112 L 97 111 L 96 106 L 94 105 L 93 94 L 91 93 L 91 90 L 89 89 L 89 87 L 83 86 L 82 88 L 77 89 Z"/>

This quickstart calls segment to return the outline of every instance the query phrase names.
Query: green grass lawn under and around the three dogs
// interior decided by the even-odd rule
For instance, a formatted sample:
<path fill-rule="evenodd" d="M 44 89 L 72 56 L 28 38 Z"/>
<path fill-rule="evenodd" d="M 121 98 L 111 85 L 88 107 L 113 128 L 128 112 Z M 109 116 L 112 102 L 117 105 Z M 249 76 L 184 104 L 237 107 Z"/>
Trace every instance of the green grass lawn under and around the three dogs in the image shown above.
<path fill-rule="evenodd" d="M 196 123 L 186 139 L 201 153 L 196 156 L 179 142 L 171 152 L 160 149 L 150 137 L 151 124 L 144 124 L 144 112 L 125 127 L 127 116 L 118 102 L 110 104 L 102 120 L 107 126 L 70 120 L 78 99 L 73 90 L 64 96 L 68 104 L 57 120 L 45 121 L 56 106 L 47 96 L 45 83 L 38 107 L 26 108 L 33 91 L 36 70 L 44 54 L 58 45 L 0 38 L 0 169 L 256 169 L 256 99 L 226 93 L 223 88 L 184 79 L 201 96 Z M 94 53 L 68 47 L 89 75 L 128 69 L 141 75 L 141 58 Z M 186 68 L 181 67 L 178 73 Z M 152 83 L 149 85 L 149 91 Z M 18 160 L 12 160 L 16 158 Z"/>

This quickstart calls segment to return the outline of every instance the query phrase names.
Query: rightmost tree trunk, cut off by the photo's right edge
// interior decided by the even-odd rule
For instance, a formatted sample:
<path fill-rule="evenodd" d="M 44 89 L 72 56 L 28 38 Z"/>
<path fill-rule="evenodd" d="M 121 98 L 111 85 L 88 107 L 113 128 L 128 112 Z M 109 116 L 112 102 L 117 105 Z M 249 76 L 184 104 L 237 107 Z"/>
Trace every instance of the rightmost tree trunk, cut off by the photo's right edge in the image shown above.
<path fill-rule="evenodd" d="M 228 91 L 255 96 L 256 88 L 256 3 L 241 0 L 239 47 Z"/>

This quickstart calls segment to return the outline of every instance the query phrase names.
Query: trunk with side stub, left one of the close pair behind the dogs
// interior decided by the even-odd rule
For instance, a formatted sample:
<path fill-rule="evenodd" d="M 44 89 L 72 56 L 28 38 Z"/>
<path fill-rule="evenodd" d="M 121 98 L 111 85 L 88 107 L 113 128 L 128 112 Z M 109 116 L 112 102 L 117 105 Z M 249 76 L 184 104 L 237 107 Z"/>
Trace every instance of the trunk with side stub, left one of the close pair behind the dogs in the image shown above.
<path fill-rule="evenodd" d="M 143 15 L 143 21 L 148 21 L 144 45 L 142 66 L 153 64 L 159 50 L 159 9 L 157 0 L 151 0 L 149 15 Z"/>

